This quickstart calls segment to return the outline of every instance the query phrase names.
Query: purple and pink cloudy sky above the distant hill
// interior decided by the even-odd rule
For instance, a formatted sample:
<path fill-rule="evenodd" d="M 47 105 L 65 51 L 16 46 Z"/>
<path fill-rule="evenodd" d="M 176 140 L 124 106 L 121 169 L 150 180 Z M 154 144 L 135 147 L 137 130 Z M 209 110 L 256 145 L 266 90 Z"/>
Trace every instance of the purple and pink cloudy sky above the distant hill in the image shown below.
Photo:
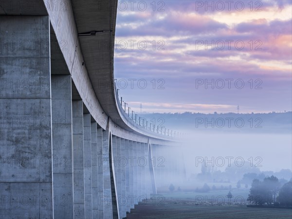
<path fill-rule="evenodd" d="M 291 111 L 291 2 L 119 0 L 119 96 L 135 112 Z"/>

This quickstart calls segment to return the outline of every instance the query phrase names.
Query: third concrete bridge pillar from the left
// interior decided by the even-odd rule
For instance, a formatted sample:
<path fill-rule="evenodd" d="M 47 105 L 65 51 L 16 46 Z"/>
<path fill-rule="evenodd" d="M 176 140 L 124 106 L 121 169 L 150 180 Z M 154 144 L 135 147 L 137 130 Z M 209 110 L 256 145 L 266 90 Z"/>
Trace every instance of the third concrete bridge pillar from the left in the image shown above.
<path fill-rule="evenodd" d="M 82 100 L 73 100 L 72 108 L 73 108 L 72 112 L 73 112 L 74 219 L 82 219 L 85 218 Z"/>

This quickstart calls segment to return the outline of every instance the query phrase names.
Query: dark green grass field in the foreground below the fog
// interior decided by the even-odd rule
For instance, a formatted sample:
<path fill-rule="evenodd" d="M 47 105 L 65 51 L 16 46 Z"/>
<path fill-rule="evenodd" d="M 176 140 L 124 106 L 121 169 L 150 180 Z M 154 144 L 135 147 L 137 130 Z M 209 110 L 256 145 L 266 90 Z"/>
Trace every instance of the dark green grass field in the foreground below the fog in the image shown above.
<path fill-rule="evenodd" d="M 291 209 L 194 205 L 180 200 L 136 205 L 127 219 L 291 219 Z"/>

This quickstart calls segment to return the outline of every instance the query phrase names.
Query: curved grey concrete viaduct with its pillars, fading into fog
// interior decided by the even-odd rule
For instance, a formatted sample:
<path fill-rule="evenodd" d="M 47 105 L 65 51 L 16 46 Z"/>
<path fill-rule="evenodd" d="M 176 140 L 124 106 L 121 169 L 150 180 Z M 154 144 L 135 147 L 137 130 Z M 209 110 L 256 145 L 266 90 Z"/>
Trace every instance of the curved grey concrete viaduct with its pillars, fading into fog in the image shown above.
<path fill-rule="evenodd" d="M 125 218 L 183 181 L 180 140 L 119 103 L 116 12 L 117 0 L 0 1 L 1 219 Z"/>

